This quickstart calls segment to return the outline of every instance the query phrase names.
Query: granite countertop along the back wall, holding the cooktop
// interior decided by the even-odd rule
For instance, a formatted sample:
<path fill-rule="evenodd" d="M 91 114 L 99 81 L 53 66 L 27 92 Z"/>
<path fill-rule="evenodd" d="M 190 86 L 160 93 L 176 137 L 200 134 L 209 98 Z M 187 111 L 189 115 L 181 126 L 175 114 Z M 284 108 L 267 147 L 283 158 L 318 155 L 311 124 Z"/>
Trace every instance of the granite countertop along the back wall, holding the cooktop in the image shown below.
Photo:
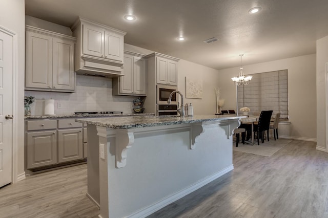
<path fill-rule="evenodd" d="M 49 119 L 49 118 L 88 118 L 88 117 L 125 117 L 125 116 L 154 116 L 149 114 L 71 114 L 71 115 L 32 115 L 24 119 Z"/>

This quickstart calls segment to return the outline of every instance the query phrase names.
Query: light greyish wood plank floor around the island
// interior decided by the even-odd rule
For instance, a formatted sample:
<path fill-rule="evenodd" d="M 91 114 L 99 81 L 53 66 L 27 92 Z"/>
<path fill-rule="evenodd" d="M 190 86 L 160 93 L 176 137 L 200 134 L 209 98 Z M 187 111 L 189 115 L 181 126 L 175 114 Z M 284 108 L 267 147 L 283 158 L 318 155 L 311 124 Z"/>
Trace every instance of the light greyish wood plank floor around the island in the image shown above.
<path fill-rule="evenodd" d="M 256 145 L 257 146 L 257 145 Z M 149 217 L 328 217 L 328 154 L 293 140 L 271 157 L 234 151 L 235 169 Z M 86 165 L 0 189 L 0 217 L 97 217 Z"/>

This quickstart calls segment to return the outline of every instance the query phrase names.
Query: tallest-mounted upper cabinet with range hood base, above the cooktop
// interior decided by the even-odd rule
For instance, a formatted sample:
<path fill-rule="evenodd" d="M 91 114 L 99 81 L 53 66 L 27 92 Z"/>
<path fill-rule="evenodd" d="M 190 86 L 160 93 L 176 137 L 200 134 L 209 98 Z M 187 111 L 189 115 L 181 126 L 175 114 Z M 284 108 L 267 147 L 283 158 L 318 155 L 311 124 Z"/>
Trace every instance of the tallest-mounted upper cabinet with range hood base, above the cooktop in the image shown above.
<path fill-rule="evenodd" d="M 122 76 L 126 32 L 79 18 L 72 26 L 77 37 L 75 71 L 83 75 Z"/>

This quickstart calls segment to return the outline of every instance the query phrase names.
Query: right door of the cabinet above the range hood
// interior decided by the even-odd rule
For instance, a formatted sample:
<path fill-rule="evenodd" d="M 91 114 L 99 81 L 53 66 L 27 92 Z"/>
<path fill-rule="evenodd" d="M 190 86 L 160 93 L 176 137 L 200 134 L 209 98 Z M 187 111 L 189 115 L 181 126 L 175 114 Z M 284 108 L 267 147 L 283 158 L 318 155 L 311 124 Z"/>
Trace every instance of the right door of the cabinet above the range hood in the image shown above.
<path fill-rule="evenodd" d="M 105 31 L 105 58 L 122 62 L 124 58 L 124 37 Z"/>

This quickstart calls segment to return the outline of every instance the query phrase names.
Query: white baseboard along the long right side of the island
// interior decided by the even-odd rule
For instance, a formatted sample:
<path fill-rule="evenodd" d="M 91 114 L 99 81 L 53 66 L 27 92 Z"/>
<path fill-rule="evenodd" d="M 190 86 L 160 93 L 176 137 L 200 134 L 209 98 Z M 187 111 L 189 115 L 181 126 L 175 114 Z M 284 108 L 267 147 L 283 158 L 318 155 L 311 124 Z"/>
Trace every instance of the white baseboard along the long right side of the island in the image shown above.
<path fill-rule="evenodd" d="M 128 215 L 127 217 L 131 217 L 131 218 L 146 217 L 146 216 L 156 212 L 157 210 L 175 202 L 176 200 L 185 197 L 187 194 L 190 194 L 191 192 L 193 192 L 193 191 L 201 188 L 202 186 L 212 182 L 213 180 L 223 176 L 224 174 L 230 172 L 233 169 L 234 169 L 234 165 L 232 164 L 231 166 L 224 168 L 224 169 L 220 170 L 219 172 L 214 173 L 212 176 L 204 178 L 204 179 L 198 181 L 197 183 L 170 195 L 169 197 L 167 197 L 165 199 L 162 199 L 146 208 L 143 208 L 133 214 Z"/>

